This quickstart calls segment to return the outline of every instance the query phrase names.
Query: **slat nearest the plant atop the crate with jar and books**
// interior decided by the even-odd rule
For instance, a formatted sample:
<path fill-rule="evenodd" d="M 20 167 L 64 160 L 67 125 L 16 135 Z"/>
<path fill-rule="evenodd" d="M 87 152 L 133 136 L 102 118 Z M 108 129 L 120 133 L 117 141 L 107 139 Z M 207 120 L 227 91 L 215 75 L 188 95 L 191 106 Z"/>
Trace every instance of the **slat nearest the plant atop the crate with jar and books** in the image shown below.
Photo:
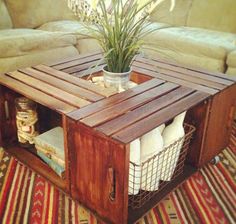
<path fill-rule="evenodd" d="M 83 87 L 101 96 L 108 97 L 116 93 L 116 89 L 114 88 L 105 88 L 105 87 L 97 86 L 91 82 L 88 82 L 87 80 L 74 77 L 68 73 L 58 71 L 56 69 L 50 68 L 45 65 L 37 65 L 37 66 L 34 66 L 33 68 L 37 69 L 38 71 L 42 71 L 44 73 L 50 74 L 51 76 L 54 76 L 55 78 Z"/>

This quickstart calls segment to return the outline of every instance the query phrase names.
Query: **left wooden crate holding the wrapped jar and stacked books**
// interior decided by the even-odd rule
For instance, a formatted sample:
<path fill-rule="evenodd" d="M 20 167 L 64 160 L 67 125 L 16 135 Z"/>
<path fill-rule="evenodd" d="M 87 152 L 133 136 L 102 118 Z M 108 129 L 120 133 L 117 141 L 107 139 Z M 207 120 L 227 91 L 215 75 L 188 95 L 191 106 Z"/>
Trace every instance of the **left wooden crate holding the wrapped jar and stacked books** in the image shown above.
<path fill-rule="evenodd" d="M 114 94 L 83 79 L 40 65 L 0 75 L 0 145 L 21 162 L 70 193 L 68 158 L 68 113 Z M 39 157 L 21 148 L 17 142 L 15 99 L 25 96 L 38 103 L 40 131 L 64 129 L 66 176 L 60 178 Z"/>

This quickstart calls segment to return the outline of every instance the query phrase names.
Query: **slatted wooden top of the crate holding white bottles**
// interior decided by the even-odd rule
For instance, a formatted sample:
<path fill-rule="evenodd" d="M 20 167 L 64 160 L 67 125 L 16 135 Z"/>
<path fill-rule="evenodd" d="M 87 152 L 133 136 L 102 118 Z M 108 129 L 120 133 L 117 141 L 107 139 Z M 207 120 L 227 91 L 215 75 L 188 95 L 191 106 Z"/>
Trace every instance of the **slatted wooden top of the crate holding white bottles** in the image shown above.
<path fill-rule="evenodd" d="M 188 87 L 151 79 L 68 116 L 128 144 L 209 96 Z"/>

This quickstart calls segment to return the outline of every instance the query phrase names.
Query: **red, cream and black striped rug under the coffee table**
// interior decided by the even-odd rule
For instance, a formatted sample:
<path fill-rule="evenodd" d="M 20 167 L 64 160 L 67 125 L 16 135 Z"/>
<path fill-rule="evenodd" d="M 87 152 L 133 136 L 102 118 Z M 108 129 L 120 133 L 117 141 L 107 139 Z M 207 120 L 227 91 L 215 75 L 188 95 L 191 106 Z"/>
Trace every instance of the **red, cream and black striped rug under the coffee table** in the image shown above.
<path fill-rule="evenodd" d="M 217 165 L 206 165 L 137 224 L 236 223 L 236 124 Z M 99 224 L 80 204 L 0 149 L 0 223 Z"/>

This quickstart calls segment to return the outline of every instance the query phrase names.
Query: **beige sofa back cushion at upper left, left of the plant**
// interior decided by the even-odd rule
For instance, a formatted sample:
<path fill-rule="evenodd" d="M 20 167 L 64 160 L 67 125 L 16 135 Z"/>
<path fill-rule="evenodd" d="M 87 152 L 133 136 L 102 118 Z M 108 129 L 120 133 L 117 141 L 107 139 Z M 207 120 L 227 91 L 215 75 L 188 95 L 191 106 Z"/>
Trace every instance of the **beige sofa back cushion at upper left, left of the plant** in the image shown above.
<path fill-rule="evenodd" d="M 35 28 L 46 22 L 74 19 L 65 0 L 6 0 L 15 28 Z"/>

